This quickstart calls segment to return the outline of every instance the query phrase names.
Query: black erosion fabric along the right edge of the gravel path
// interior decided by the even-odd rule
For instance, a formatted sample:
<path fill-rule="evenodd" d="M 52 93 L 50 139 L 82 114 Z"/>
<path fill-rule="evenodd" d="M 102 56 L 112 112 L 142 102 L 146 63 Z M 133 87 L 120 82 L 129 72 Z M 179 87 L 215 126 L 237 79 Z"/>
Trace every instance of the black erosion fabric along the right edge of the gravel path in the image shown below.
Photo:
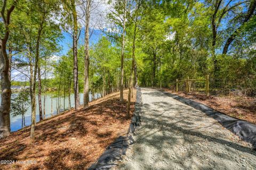
<path fill-rule="evenodd" d="M 206 115 L 213 117 L 217 120 L 224 128 L 230 130 L 234 134 L 238 135 L 242 140 L 252 144 L 252 148 L 256 150 L 256 125 L 239 120 L 235 117 L 230 117 L 224 113 L 215 111 L 213 108 L 208 107 L 202 103 L 180 97 L 178 95 L 170 94 L 169 92 L 163 92 L 167 96 L 180 101 L 183 104 L 194 107 L 195 109 L 204 112 Z"/>

